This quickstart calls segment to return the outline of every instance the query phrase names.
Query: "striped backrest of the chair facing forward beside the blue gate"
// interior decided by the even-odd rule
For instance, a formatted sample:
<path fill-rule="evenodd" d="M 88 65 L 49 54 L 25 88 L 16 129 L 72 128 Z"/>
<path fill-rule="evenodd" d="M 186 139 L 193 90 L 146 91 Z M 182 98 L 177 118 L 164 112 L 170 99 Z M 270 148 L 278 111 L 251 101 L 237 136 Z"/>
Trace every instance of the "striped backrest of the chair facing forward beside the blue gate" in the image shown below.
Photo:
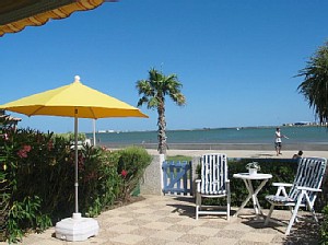
<path fill-rule="evenodd" d="M 212 153 L 201 156 L 201 194 L 221 195 L 226 192 L 226 154 Z"/>

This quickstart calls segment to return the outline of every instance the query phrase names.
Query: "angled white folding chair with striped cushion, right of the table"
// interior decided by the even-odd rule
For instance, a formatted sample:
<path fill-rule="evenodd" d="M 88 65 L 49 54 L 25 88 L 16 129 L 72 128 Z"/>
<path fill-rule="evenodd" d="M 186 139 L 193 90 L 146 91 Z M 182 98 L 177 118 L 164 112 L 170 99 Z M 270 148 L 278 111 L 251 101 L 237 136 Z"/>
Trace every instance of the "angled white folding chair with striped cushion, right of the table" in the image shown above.
<path fill-rule="evenodd" d="M 265 225 L 270 221 L 274 206 L 285 206 L 292 211 L 285 234 L 290 231 L 295 221 L 297 221 L 297 211 L 300 207 L 307 207 L 314 220 L 318 222 L 314 210 L 314 203 L 317 192 L 321 191 L 324 174 L 326 171 L 327 160 L 319 158 L 304 158 L 298 160 L 297 173 L 293 184 L 273 183 L 278 187 L 276 195 L 267 196 L 266 199 L 271 203 L 269 214 Z M 291 187 L 289 194 L 285 187 Z"/>

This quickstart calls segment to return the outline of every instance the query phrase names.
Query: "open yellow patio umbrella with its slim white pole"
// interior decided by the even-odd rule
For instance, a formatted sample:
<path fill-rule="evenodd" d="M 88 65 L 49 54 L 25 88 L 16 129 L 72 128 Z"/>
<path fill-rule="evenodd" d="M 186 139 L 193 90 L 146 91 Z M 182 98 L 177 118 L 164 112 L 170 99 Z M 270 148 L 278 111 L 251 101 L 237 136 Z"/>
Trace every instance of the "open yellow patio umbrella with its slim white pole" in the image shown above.
<path fill-rule="evenodd" d="M 0 105 L 0 108 L 21 113 L 27 116 L 47 115 L 74 117 L 75 212 L 73 213 L 73 218 L 77 218 L 77 220 L 81 218 L 78 203 L 78 118 L 98 119 L 105 117 L 148 117 L 138 108 L 125 102 L 83 85 L 80 82 L 79 75 L 75 75 L 75 81 L 69 85 L 20 98 L 17 101 Z M 72 226 L 77 225 L 74 224 Z M 83 230 L 87 229 L 83 228 Z M 73 237 L 70 241 L 83 240 L 84 237 L 82 240 Z"/>

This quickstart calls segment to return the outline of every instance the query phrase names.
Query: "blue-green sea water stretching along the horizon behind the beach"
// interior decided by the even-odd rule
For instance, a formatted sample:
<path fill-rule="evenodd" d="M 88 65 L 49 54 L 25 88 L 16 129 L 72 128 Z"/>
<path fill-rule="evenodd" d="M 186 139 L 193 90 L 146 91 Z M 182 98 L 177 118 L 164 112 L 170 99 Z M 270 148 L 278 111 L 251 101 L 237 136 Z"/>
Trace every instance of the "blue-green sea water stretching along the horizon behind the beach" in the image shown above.
<path fill-rule="evenodd" d="M 328 129 L 318 126 L 288 126 L 280 127 L 282 135 L 289 139 L 282 139 L 284 145 L 293 145 L 300 149 L 304 145 L 324 145 L 328 150 Z M 215 128 L 194 130 L 167 130 L 167 144 L 169 145 L 270 145 L 274 143 L 276 127 L 241 127 Z M 86 133 L 92 139 L 92 133 Z M 97 132 L 97 144 L 126 145 L 141 144 L 152 145 L 157 143 L 156 131 L 120 131 Z M 175 147 L 176 148 L 176 147 Z M 251 148 L 253 149 L 253 148 Z"/>

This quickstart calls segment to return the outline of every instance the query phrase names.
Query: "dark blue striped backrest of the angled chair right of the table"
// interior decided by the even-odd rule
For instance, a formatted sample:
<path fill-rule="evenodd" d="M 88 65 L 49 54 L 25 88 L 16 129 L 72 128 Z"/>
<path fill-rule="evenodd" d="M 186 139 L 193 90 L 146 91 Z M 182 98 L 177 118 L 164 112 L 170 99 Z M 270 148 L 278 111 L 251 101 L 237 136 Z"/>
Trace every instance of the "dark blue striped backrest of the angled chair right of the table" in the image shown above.
<path fill-rule="evenodd" d="M 320 188 L 326 172 L 327 160 L 320 158 L 303 158 L 298 160 L 297 173 L 289 197 L 297 199 L 300 190 L 296 186 Z M 309 194 L 309 200 L 315 201 L 316 192 Z"/>

